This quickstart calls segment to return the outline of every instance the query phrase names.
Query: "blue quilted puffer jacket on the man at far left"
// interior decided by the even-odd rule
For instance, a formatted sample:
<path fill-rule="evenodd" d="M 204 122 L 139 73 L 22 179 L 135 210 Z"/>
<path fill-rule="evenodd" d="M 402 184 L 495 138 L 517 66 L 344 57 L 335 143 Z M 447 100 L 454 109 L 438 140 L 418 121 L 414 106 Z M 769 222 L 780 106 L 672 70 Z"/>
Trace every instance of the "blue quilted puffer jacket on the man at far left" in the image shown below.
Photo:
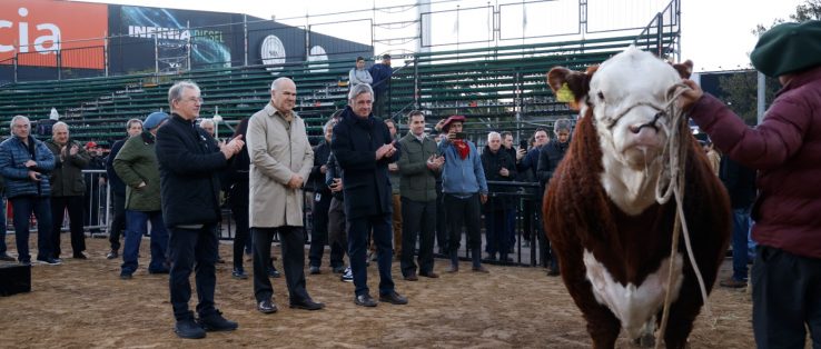
<path fill-rule="evenodd" d="M 6 180 L 6 197 L 9 199 L 19 196 L 51 195 L 48 174 L 55 169 L 55 156 L 43 142 L 33 137 L 29 136 L 28 142 L 26 146 L 19 138 L 11 137 L 0 143 L 0 173 Z M 39 181 L 29 179 L 26 161 L 32 159 L 37 162 L 33 170 L 42 173 Z"/>

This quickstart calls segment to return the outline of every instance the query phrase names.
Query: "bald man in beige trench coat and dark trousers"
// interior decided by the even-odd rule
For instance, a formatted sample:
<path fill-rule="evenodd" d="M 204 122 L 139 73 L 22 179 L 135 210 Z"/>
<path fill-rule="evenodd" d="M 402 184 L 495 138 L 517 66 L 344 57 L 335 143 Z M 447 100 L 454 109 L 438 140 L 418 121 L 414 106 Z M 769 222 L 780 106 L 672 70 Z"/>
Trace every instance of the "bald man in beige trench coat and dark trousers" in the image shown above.
<path fill-rule="evenodd" d="M 305 289 L 305 231 L 303 185 L 314 164 L 305 122 L 294 112 L 296 84 L 288 78 L 274 80 L 271 100 L 248 122 L 250 156 L 249 222 L 254 239 L 254 296 L 257 310 L 277 311 L 268 279 L 270 243 L 278 232 L 285 280 L 291 308 L 319 310 Z"/>

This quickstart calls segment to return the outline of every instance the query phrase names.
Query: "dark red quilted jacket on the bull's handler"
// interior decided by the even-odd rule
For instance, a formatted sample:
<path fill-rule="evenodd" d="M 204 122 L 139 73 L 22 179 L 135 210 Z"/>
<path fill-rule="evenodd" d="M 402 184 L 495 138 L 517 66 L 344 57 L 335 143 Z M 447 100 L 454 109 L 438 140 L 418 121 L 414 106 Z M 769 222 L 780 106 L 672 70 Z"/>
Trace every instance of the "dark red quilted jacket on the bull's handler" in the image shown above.
<path fill-rule="evenodd" d="M 821 67 L 795 76 L 775 96 L 754 129 L 709 94 L 690 116 L 725 154 L 759 170 L 753 239 L 821 258 Z"/>

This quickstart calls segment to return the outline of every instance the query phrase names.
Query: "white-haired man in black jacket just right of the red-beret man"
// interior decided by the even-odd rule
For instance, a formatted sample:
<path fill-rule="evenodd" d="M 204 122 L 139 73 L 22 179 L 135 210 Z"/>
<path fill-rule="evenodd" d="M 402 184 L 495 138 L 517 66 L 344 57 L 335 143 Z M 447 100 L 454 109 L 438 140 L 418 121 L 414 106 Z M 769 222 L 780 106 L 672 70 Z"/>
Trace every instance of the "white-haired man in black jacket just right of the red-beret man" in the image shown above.
<path fill-rule="evenodd" d="M 511 158 L 507 151 L 502 149 L 502 136 L 498 132 L 487 133 L 487 146 L 482 152 L 482 168 L 485 171 L 485 179 L 492 181 L 513 181 L 516 178 L 516 160 Z M 511 253 L 511 239 L 513 230 L 507 222 L 507 216 L 512 211 L 513 199 L 505 196 L 505 192 L 515 191 L 513 187 L 496 187 L 495 196 L 485 207 L 485 251 L 489 260 L 498 260 L 502 262 L 513 261 L 507 257 Z"/>

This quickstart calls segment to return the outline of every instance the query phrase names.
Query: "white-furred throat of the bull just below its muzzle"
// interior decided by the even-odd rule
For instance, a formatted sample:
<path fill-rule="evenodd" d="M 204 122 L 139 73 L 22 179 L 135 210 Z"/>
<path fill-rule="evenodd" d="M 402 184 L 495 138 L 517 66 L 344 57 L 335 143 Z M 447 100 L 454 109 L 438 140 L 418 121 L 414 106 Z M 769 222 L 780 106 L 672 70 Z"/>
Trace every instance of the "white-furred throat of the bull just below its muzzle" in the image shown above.
<path fill-rule="evenodd" d="M 624 213 L 636 216 L 655 203 L 655 187 L 661 172 L 660 161 L 636 170 L 612 158 L 604 158 L 602 186 L 607 197 Z"/>

